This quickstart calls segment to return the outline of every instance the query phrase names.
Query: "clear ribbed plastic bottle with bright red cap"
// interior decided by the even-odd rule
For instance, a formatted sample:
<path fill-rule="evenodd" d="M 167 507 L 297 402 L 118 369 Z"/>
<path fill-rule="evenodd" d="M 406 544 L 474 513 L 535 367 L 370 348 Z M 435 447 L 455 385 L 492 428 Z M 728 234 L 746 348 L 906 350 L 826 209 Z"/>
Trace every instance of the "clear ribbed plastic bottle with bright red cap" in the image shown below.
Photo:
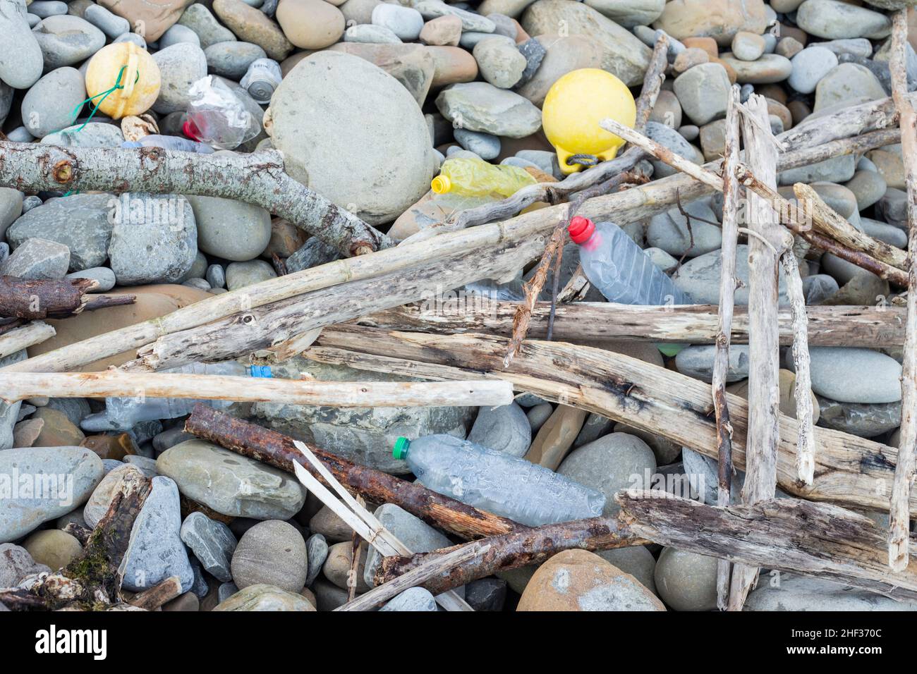
<path fill-rule="evenodd" d="M 577 215 L 570 220 L 570 238 L 580 244 L 582 271 L 609 302 L 618 304 L 691 304 L 653 260 L 611 222 L 593 223 Z"/>

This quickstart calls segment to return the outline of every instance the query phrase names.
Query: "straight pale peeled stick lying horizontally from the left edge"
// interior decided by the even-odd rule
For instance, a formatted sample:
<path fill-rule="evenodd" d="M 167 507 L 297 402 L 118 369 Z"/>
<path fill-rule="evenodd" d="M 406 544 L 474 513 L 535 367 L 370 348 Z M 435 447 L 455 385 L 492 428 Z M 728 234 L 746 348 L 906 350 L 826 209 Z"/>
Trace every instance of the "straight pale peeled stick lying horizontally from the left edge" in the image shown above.
<path fill-rule="evenodd" d="M 299 381 L 209 374 L 17 372 L 0 370 L 0 400 L 15 403 L 39 395 L 55 398 L 190 398 L 332 407 L 441 407 L 513 402 L 508 382 L 489 381 Z"/>

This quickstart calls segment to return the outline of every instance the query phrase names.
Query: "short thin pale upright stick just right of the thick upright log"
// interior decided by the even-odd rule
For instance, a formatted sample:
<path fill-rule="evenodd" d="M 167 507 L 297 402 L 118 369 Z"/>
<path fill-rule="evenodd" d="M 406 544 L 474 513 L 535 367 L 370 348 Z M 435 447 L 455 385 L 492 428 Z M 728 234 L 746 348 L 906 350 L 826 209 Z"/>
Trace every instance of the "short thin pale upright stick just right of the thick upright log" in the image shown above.
<path fill-rule="evenodd" d="M 815 477 L 815 431 L 812 417 L 812 378 L 809 367 L 809 330 L 805 314 L 805 294 L 802 293 L 802 279 L 799 263 L 793 251 L 787 250 L 780 256 L 786 272 L 787 295 L 793 315 L 793 365 L 796 370 L 794 395 L 796 397 L 796 420 L 799 422 L 799 436 L 796 441 L 796 470 L 803 484 L 812 484 Z"/>

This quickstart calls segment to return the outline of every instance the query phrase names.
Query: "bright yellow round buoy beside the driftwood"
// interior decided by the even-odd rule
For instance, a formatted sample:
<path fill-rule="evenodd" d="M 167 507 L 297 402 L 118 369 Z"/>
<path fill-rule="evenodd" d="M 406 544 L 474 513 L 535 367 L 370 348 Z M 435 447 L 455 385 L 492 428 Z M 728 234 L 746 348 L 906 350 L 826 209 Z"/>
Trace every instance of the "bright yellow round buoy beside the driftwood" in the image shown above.
<path fill-rule="evenodd" d="M 575 173 L 583 167 L 569 164 L 573 155 L 592 155 L 600 161 L 614 158 L 624 139 L 599 126 L 611 117 L 634 127 L 636 105 L 627 85 L 611 72 L 581 68 L 568 72 L 547 92 L 541 123 L 548 142 L 558 152 L 560 171 Z"/>

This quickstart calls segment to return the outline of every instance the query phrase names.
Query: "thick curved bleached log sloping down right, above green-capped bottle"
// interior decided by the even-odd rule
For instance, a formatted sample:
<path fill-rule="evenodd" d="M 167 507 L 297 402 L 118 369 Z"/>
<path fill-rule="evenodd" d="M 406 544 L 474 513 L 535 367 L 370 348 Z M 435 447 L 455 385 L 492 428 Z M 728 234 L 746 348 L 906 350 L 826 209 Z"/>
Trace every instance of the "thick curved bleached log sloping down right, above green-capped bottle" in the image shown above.
<path fill-rule="evenodd" d="M 503 379 L 517 391 L 622 421 L 716 459 L 710 384 L 601 348 L 527 340 L 503 370 L 506 339 L 485 335 L 437 336 L 359 326 L 326 328 L 304 357 L 359 370 L 424 379 Z M 726 393 L 733 424 L 733 461 L 746 462 L 748 403 Z M 897 450 L 863 437 L 815 427 L 815 479 L 801 485 L 796 472 L 799 425 L 779 415 L 777 475 L 780 489 L 812 501 L 885 510 Z M 790 439 L 791 438 L 791 439 Z M 917 514 L 917 494 L 911 496 Z"/>

